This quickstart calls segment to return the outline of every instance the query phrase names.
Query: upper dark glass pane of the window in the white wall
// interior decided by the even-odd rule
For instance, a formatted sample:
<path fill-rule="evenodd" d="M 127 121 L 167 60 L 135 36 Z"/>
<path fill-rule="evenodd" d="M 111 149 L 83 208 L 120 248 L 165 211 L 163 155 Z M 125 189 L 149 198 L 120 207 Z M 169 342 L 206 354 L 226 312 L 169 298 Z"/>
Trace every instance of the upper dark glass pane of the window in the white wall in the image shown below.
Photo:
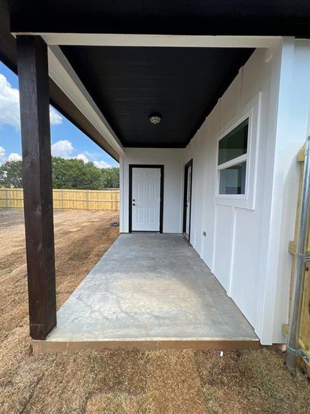
<path fill-rule="evenodd" d="M 218 165 L 247 153 L 249 119 L 222 138 L 218 145 Z"/>

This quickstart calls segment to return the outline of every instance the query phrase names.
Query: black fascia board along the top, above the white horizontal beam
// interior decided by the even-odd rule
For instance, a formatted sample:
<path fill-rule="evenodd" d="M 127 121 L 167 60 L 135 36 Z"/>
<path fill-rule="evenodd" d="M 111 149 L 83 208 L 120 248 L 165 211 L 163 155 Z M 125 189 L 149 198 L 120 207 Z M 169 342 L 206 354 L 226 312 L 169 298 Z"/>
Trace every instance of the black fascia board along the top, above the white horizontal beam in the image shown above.
<path fill-rule="evenodd" d="M 310 35 L 309 0 L 8 0 L 12 31 Z"/>

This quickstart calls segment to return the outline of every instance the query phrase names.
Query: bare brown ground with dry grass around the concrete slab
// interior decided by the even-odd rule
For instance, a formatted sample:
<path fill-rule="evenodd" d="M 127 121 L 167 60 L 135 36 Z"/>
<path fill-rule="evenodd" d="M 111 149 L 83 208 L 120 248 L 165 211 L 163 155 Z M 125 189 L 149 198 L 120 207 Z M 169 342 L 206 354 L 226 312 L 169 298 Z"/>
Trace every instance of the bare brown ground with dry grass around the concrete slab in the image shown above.
<path fill-rule="evenodd" d="M 110 212 L 56 212 L 58 307 L 118 235 Z M 32 355 L 23 215 L 0 210 L 0 413 L 309 414 L 310 385 L 274 351 Z"/>

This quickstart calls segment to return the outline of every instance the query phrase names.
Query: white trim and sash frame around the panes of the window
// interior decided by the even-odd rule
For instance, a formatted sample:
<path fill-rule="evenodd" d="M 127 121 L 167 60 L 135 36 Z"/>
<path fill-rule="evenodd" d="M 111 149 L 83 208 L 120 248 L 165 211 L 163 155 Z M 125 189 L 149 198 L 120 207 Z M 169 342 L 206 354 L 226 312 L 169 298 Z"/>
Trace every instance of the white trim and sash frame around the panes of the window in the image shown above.
<path fill-rule="evenodd" d="M 218 132 L 216 139 L 216 188 L 215 203 L 225 206 L 234 206 L 239 208 L 255 209 L 255 193 L 256 193 L 256 175 L 257 175 L 257 156 L 258 141 L 260 129 L 260 103 L 262 92 L 251 99 L 245 105 L 238 116 L 233 117 Z M 232 130 L 242 124 L 243 121 L 249 119 L 248 135 L 247 135 L 247 152 L 239 157 L 226 161 L 218 165 L 218 151 L 220 140 L 229 134 Z M 236 164 L 246 162 L 245 172 L 245 194 L 220 194 L 220 171 L 225 170 Z"/>

